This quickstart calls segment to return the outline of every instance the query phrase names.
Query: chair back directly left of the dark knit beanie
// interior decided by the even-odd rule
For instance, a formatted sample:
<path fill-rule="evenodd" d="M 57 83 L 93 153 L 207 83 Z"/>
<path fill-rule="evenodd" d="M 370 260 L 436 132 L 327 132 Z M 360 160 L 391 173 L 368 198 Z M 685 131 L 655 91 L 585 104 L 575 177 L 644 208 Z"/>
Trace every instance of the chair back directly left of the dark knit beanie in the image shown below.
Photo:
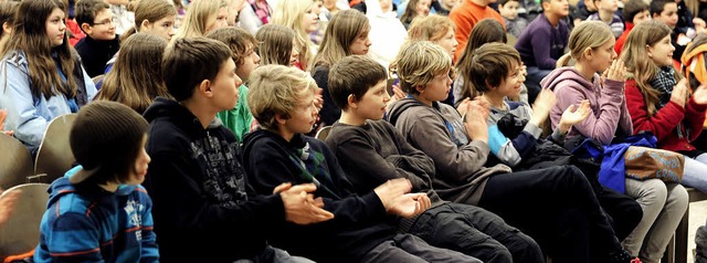
<path fill-rule="evenodd" d="M 50 183 L 72 168 L 76 159 L 71 151 L 68 133 L 75 118 L 76 114 L 65 114 L 49 123 L 42 144 L 36 151 L 35 176 L 31 180 Z"/>

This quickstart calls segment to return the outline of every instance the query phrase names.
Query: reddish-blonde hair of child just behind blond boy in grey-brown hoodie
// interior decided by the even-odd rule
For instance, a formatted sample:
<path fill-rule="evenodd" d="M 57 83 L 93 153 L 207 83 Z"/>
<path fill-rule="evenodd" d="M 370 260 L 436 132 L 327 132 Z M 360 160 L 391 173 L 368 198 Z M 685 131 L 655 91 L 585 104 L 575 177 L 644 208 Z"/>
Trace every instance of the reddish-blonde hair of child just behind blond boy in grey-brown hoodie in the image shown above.
<path fill-rule="evenodd" d="M 454 22 L 452 22 L 450 18 L 440 14 L 430 14 L 412 21 L 412 24 L 410 24 L 408 29 L 408 40 L 440 41 L 444 39 L 450 29 L 452 31 L 455 29 Z"/>

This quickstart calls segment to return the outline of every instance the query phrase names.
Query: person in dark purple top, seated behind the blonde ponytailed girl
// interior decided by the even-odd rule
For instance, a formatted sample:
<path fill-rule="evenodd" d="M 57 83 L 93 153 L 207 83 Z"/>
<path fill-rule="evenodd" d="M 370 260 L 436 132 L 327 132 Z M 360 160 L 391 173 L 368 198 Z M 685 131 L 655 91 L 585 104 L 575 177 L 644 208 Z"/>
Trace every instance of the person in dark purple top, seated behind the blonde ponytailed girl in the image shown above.
<path fill-rule="evenodd" d="M 528 103 L 540 93 L 540 81 L 555 70 L 557 60 L 564 54 L 570 31 L 564 22 L 569 14 L 567 0 L 542 0 L 542 13 L 518 36 L 516 50 L 528 66 L 526 87 Z"/>

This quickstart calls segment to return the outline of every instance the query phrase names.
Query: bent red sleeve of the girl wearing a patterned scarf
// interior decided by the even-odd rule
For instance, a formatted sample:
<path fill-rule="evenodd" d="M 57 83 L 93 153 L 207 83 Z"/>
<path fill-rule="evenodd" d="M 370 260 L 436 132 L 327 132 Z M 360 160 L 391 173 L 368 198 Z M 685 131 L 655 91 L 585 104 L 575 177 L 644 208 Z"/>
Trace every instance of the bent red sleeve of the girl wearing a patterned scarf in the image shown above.
<path fill-rule="evenodd" d="M 634 82 L 626 85 L 626 106 L 633 120 L 633 133 L 651 132 L 658 141 L 669 136 L 685 117 L 685 108 L 674 102 L 668 102 L 657 113 L 650 116 L 643 94 Z"/>

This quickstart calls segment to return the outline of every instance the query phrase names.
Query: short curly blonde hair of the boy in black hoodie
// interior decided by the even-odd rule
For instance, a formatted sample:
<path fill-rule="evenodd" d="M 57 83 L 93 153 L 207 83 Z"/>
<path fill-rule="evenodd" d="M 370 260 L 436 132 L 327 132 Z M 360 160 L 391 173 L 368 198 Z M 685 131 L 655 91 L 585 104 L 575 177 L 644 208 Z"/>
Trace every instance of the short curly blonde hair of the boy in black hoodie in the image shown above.
<path fill-rule="evenodd" d="M 253 117 L 264 129 L 277 130 L 275 115 L 289 118 L 289 113 L 305 94 L 314 93 L 317 83 L 309 74 L 291 66 L 264 65 L 250 77 L 247 104 Z"/>

